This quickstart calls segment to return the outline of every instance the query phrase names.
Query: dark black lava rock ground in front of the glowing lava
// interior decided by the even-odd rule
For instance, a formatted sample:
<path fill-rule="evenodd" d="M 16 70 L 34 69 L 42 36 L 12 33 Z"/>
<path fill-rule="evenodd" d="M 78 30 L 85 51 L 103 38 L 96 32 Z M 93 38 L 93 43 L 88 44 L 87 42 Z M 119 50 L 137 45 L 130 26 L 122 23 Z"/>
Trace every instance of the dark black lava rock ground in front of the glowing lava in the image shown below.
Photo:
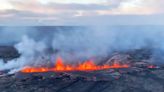
<path fill-rule="evenodd" d="M 118 74 L 120 70 L 131 70 L 131 72 Z M 139 72 L 135 69 L 127 70 L 115 69 L 113 73 L 108 72 L 109 70 L 79 73 L 17 73 L 0 77 L 0 90 L 1 92 L 164 92 L 164 69 L 145 69 Z M 90 79 L 91 76 L 97 77 L 98 80 Z"/>

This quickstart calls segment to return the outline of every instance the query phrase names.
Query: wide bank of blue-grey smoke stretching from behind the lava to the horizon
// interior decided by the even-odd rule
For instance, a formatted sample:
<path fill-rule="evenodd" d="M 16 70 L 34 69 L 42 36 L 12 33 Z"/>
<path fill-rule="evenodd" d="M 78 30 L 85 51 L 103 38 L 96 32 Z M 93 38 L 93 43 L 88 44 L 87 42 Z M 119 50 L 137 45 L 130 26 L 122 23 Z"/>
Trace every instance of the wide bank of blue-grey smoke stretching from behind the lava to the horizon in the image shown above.
<path fill-rule="evenodd" d="M 20 58 L 0 64 L 3 65 L 1 70 L 21 69 L 26 65 L 44 64 L 47 61 L 53 63 L 58 55 L 67 61 L 76 61 L 143 47 L 152 48 L 152 59 L 158 56 L 163 62 L 162 26 L 5 27 L 1 30 L 1 44 L 14 43 L 21 53 Z M 11 38 L 6 39 L 6 35 Z"/>

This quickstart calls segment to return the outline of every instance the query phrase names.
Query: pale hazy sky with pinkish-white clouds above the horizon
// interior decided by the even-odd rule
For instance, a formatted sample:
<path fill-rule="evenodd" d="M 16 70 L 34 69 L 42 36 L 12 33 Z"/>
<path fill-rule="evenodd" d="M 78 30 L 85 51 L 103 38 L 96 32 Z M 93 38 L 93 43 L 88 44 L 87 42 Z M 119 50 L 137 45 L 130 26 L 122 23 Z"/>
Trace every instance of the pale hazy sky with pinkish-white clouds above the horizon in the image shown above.
<path fill-rule="evenodd" d="M 0 0 L 0 24 L 164 24 L 164 0 Z"/>

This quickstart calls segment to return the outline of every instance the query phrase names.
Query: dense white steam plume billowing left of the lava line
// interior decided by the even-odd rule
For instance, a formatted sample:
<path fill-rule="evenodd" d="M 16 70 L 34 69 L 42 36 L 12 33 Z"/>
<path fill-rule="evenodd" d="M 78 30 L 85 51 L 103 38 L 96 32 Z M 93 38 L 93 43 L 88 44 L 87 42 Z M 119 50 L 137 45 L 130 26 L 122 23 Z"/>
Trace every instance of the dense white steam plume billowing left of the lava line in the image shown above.
<path fill-rule="evenodd" d="M 26 65 L 33 65 L 37 63 L 37 58 L 42 55 L 46 49 L 46 45 L 43 42 L 36 42 L 28 36 L 23 36 L 20 43 L 15 45 L 15 48 L 21 54 L 18 59 L 11 60 L 6 64 L 0 61 L 0 70 L 12 69 L 10 73 L 19 71 Z"/>

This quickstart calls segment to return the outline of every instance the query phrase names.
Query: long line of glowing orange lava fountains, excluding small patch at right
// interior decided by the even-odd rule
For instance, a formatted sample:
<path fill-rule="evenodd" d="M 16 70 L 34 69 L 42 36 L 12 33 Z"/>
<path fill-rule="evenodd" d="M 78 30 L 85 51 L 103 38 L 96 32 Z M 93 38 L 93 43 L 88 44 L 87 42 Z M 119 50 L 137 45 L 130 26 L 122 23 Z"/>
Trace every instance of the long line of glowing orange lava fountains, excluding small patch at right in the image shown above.
<path fill-rule="evenodd" d="M 64 64 L 61 57 L 56 59 L 56 64 L 52 68 L 47 67 L 25 67 L 21 70 L 23 73 L 34 73 L 34 72 L 60 72 L 60 71 L 92 71 L 92 70 L 103 70 L 103 69 L 110 69 L 110 68 L 128 68 L 129 65 L 127 64 L 118 64 L 114 63 L 113 65 L 96 65 L 94 61 L 88 60 L 84 63 L 74 65 Z"/>

